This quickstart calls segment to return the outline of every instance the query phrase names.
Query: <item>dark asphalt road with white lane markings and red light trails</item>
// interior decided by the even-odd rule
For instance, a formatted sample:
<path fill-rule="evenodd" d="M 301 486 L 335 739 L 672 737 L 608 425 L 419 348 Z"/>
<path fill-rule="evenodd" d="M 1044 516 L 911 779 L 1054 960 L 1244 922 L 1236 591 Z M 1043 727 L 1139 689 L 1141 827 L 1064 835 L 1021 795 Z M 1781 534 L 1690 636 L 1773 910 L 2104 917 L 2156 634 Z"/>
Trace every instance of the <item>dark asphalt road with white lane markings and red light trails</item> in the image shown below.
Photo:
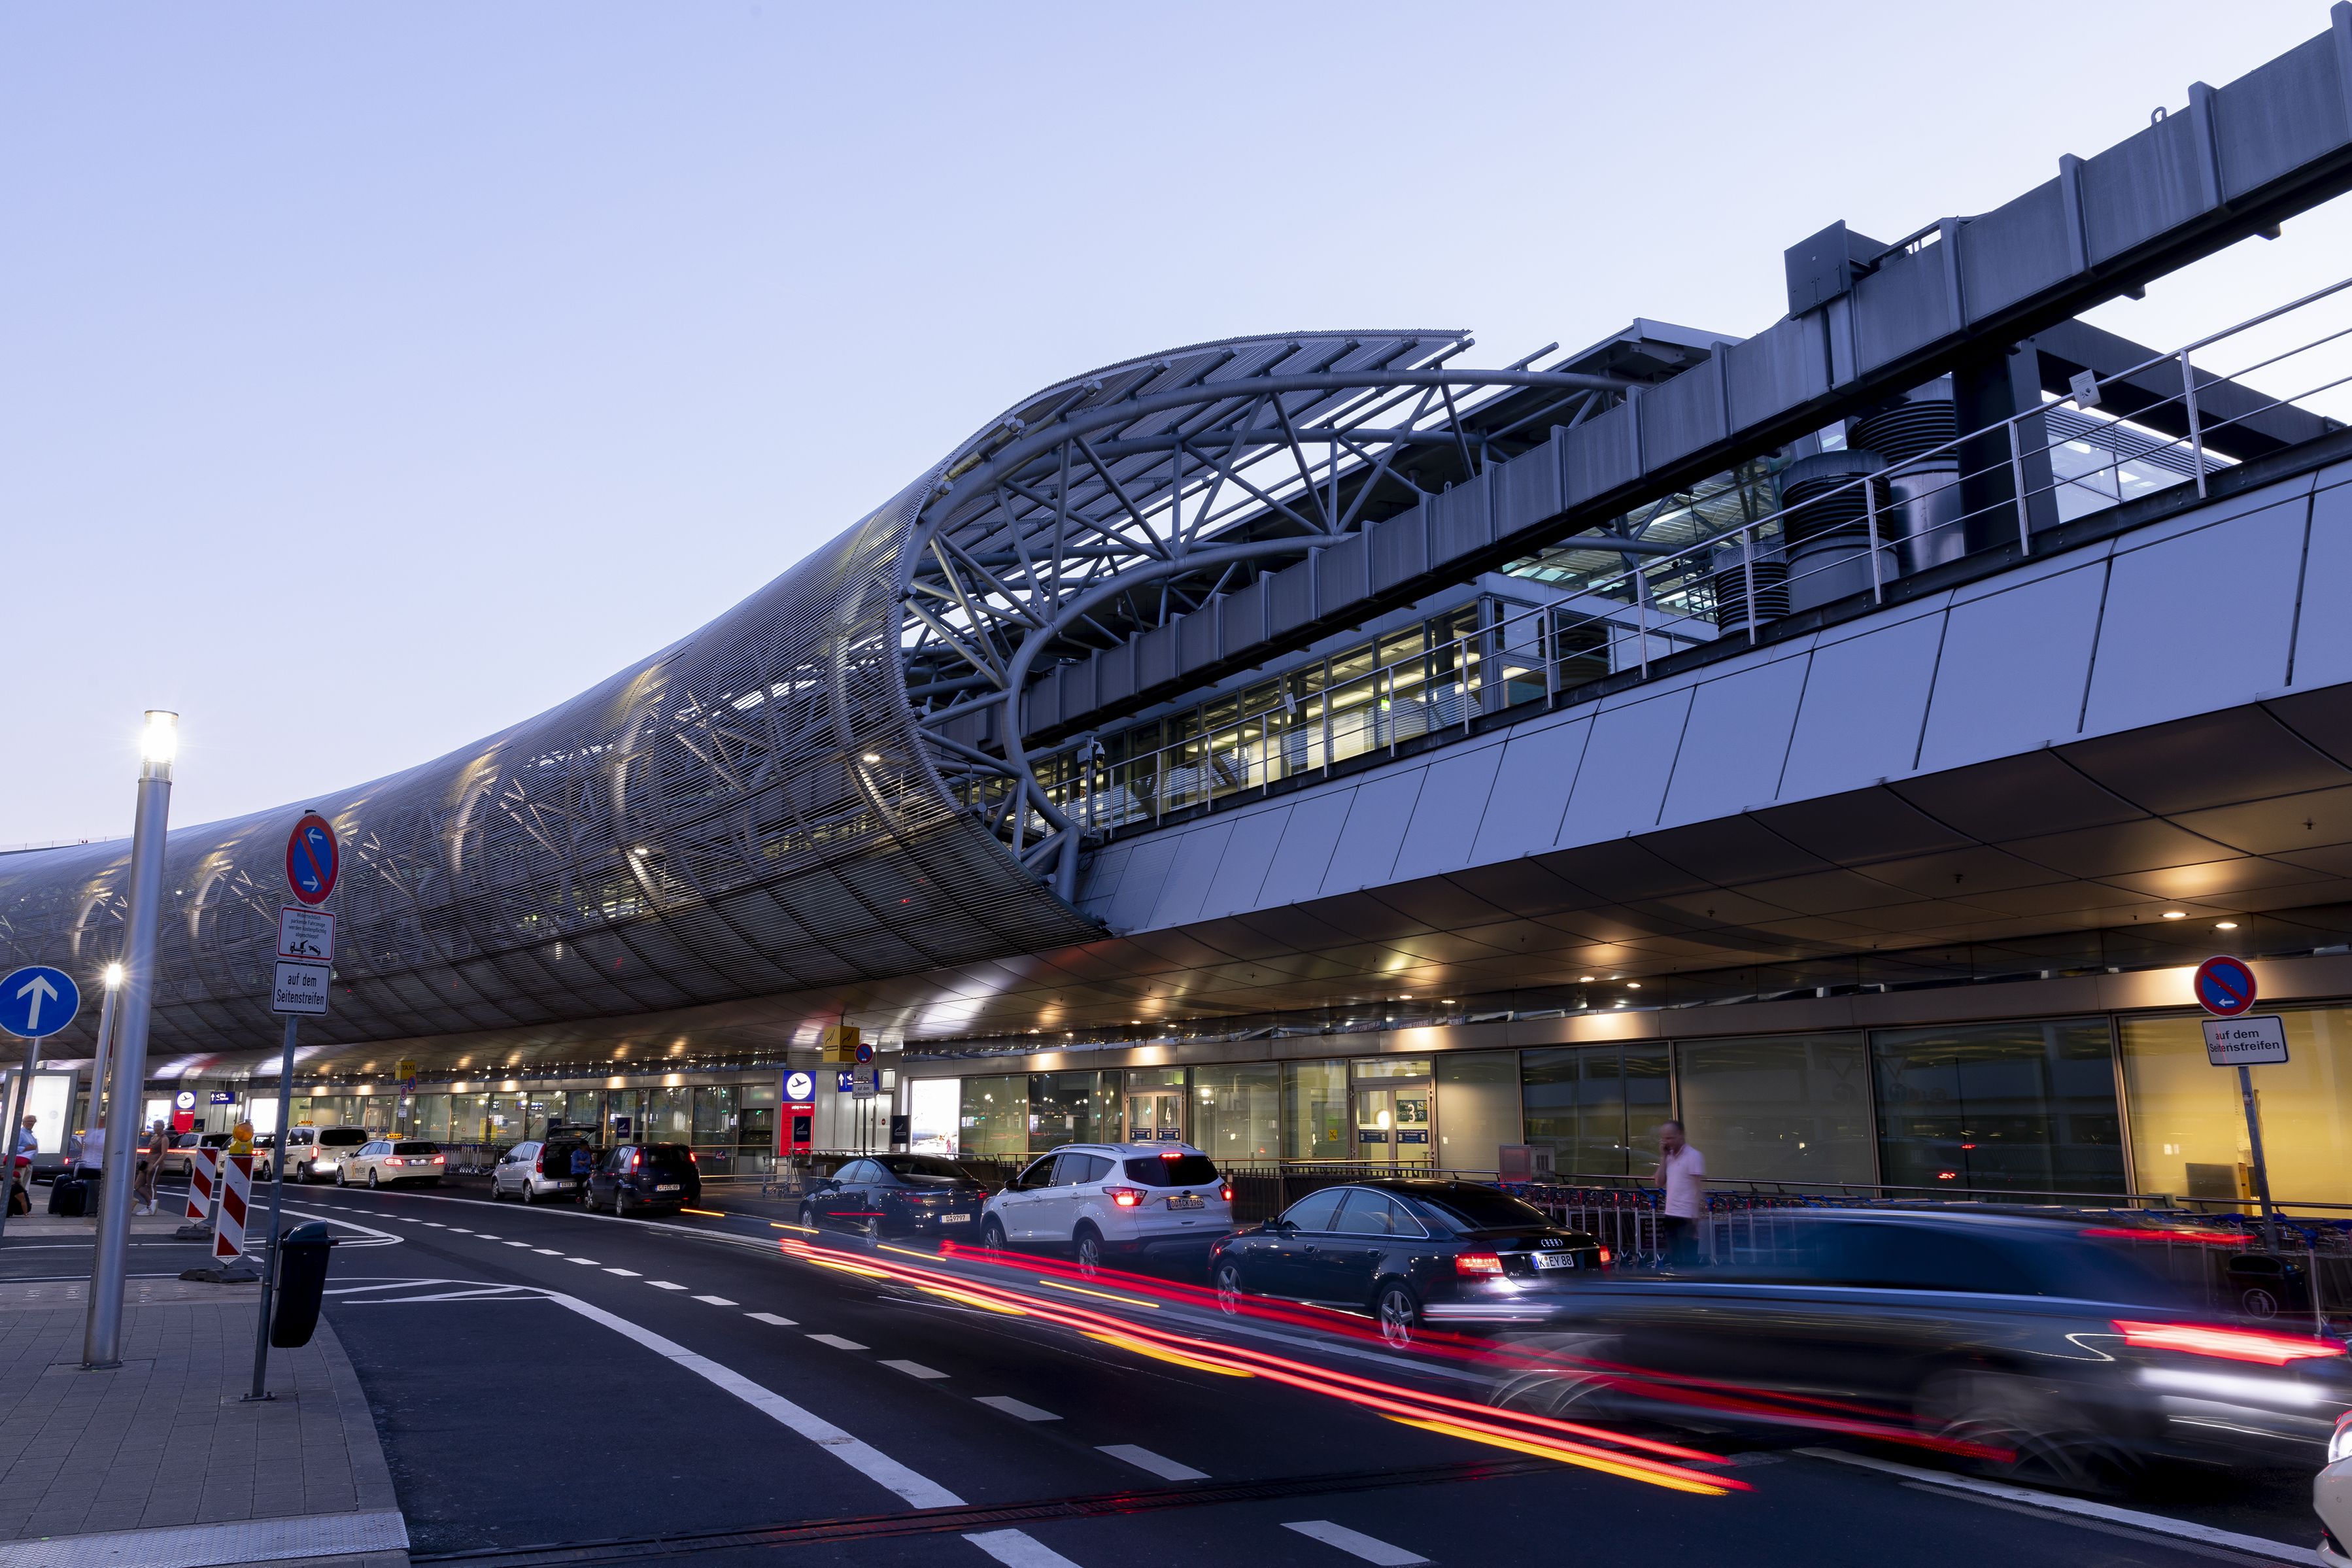
<path fill-rule="evenodd" d="M 1856 1462 L 1917 1465 L 1872 1448 L 1835 1460 L 1677 1434 L 1710 1462 L 1592 1443 L 1562 1462 L 1397 1420 L 1482 1399 L 1444 1361 L 1237 1333 L 1051 1260 L 941 1262 L 851 1239 L 811 1251 L 743 1208 L 642 1222 L 489 1206 L 477 1187 L 289 1194 L 296 1218 L 343 1239 L 327 1312 L 419 1561 L 2312 1561 L 2298 1552 L 2317 1537 L 2307 1476 L 2086 1516 Z M 0 1276 L 78 1272 L 75 1248 L 35 1246 L 0 1246 Z M 132 1272 L 176 1274 L 193 1253 L 141 1244 Z M 80 1258 L 87 1269 L 87 1246 Z M 1188 1356 L 1169 1333 L 1240 1349 Z M 1336 1396 L 1359 1389 L 1341 1375 L 1388 1389 L 1371 1399 L 1392 1408 Z M 2166 1514 L 2279 1547 L 2157 1533 Z"/>

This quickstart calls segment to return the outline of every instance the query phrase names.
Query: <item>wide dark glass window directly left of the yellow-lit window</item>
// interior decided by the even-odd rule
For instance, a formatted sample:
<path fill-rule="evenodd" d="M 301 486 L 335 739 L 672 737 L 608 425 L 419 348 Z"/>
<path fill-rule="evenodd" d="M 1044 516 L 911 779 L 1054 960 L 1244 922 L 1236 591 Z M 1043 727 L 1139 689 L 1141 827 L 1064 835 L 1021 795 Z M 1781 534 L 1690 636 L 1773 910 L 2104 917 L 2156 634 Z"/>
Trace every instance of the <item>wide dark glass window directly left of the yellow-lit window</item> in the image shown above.
<path fill-rule="evenodd" d="M 1870 1048 L 1891 1187 L 2124 1190 L 2105 1018 L 1879 1030 Z"/>

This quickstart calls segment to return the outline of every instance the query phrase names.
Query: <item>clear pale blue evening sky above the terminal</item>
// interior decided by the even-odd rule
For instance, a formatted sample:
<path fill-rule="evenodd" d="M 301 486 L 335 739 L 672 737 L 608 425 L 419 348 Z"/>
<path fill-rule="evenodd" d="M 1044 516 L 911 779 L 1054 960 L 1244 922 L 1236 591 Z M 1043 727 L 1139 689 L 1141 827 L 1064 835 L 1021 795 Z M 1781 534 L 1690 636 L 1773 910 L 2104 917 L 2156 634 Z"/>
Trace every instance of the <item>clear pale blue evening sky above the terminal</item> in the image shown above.
<path fill-rule="evenodd" d="M 2216 26 L 2225 16 L 2227 26 Z M 1023 393 L 1296 327 L 1752 334 L 2326 28 L 2211 5 L 0 5 L 0 844 L 374 778 Z M 2103 320 L 2169 343 L 2338 212 Z"/>

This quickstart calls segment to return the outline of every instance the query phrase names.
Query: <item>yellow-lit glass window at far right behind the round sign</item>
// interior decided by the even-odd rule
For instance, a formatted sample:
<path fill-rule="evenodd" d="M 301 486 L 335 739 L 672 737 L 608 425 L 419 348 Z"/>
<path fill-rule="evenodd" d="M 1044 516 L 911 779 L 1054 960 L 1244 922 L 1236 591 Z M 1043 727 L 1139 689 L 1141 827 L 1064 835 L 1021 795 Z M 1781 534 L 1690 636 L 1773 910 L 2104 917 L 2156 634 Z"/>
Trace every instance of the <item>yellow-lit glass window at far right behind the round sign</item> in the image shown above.
<path fill-rule="evenodd" d="M 2253 1067 L 2274 1199 L 2352 1201 L 2352 1009 L 2263 1009 L 2286 1023 L 2286 1065 Z M 2253 1192 L 2253 1145 L 2237 1074 L 2213 1067 L 2194 1016 L 2119 1018 L 2140 1192 L 2237 1199 Z"/>

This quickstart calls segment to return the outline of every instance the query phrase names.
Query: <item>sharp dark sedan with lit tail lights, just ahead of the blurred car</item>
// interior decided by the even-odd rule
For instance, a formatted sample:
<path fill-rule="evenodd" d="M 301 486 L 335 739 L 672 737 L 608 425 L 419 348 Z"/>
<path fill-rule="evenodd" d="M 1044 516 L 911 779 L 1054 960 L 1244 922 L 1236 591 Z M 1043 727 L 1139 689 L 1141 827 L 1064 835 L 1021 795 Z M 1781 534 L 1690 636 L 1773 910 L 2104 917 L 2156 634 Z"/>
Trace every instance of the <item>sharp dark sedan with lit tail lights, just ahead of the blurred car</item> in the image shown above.
<path fill-rule="evenodd" d="M 1322 1187 L 1209 1251 L 1228 1312 L 1244 1295 L 1369 1309 L 1392 1345 L 1423 1324 L 1541 1321 L 1531 1302 L 1590 1279 L 1606 1248 L 1496 1187 L 1381 1180 Z"/>

